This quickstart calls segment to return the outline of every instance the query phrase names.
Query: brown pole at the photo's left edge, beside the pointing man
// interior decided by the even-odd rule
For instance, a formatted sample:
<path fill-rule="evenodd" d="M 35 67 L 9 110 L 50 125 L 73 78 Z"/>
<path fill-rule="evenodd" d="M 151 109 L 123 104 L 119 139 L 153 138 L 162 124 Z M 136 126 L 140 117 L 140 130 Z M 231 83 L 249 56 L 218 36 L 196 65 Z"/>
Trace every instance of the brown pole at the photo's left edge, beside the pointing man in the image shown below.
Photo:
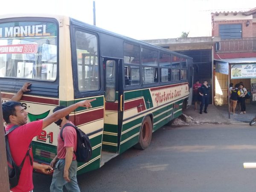
<path fill-rule="evenodd" d="M 0 99 L 1 92 L 0 92 Z M 2 111 L 2 102 L 0 103 L 0 190 L 2 192 L 9 192 L 9 177 L 7 169 L 7 159 L 6 159 L 6 148 L 4 140 L 4 130 L 3 130 L 3 111 Z"/>

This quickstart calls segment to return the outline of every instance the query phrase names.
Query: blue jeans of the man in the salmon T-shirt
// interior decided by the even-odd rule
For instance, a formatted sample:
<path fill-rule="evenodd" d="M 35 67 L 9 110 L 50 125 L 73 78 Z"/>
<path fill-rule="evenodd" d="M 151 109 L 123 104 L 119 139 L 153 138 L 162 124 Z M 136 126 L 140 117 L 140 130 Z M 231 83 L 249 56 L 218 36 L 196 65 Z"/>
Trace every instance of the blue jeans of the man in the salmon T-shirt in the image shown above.
<path fill-rule="evenodd" d="M 77 171 L 77 161 L 73 160 L 69 172 L 70 182 L 64 180 L 65 159 L 60 159 L 56 163 L 55 167 L 57 169 L 54 170 L 52 175 L 52 184 L 50 186 L 51 192 L 63 192 L 63 186 L 66 186 L 68 192 L 80 192 L 77 180 L 76 180 L 76 171 Z"/>

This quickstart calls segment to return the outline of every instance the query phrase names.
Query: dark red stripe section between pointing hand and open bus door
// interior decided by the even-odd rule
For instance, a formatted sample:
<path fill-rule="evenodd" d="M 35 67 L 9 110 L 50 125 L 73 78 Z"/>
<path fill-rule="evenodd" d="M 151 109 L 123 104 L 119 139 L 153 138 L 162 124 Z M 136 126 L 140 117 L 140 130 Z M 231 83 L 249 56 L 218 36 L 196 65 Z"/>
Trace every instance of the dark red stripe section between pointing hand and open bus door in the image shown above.
<path fill-rule="evenodd" d="M 89 111 L 82 114 L 75 115 L 76 126 L 82 125 L 88 122 L 96 121 L 104 117 L 104 109 L 98 109 L 95 111 Z"/>

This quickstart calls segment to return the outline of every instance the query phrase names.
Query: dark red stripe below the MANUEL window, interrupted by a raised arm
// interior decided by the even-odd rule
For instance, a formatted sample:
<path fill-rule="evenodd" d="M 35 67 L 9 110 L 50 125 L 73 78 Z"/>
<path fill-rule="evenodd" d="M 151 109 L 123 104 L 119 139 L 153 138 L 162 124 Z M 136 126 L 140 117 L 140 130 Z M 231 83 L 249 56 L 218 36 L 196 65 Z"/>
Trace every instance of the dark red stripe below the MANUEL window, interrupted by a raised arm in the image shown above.
<path fill-rule="evenodd" d="M 1 93 L 2 99 L 11 99 L 12 94 L 8 93 Z M 47 98 L 38 98 L 38 97 L 31 97 L 31 96 L 22 96 L 20 99 L 25 102 L 35 102 L 35 103 L 43 103 L 43 104 L 50 104 L 50 105 L 59 105 L 58 99 L 47 99 Z"/>

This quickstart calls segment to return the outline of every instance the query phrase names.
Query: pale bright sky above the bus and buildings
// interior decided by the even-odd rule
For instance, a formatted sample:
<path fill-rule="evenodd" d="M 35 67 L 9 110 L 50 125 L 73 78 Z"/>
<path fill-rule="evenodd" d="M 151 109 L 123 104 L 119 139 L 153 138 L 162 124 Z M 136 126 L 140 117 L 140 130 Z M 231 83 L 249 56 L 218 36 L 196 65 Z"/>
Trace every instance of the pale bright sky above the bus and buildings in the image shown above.
<path fill-rule="evenodd" d="M 211 36 L 211 12 L 249 10 L 256 7 L 256 0 L 95 0 L 95 4 L 96 26 L 148 40 L 178 38 L 182 32 L 189 32 L 189 37 Z M 1 14 L 50 13 L 93 24 L 93 0 L 12 0 L 1 2 L 1 7 L 5 7 Z"/>

